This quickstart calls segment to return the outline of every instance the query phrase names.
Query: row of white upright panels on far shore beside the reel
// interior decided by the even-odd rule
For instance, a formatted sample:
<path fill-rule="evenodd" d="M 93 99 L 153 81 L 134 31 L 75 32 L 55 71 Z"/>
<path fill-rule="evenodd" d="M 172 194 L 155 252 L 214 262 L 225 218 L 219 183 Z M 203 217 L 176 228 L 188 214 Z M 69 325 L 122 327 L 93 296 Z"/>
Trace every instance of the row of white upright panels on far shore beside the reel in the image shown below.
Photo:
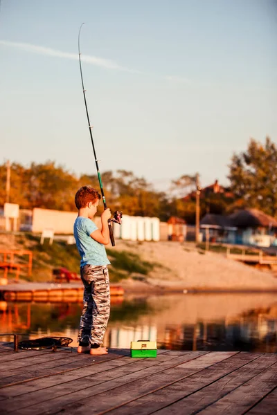
<path fill-rule="evenodd" d="M 114 223 L 114 237 L 125 241 L 159 241 L 160 220 L 124 214 L 121 225 Z"/>

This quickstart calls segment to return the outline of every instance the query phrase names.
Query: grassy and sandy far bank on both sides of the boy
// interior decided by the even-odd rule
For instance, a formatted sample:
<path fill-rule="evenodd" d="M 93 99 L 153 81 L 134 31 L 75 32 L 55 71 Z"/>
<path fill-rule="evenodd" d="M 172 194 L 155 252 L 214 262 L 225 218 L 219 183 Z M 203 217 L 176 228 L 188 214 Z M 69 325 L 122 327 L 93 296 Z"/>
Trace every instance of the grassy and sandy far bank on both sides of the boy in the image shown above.
<path fill-rule="evenodd" d="M 19 278 L 17 287 L 21 283 L 50 286 L 53 268 L 64 266 L 77 270 L 77 264 L 80 264 L 75 247 L 64 243 L 41 246 L 38 239 L 30 236 L 18 241 L 7 237 L 6 243 L 1 242 L 6 248 L 33 251 L 32 282 Z M 226 257 L 224 252 L 204 251 L 195 243 L 119 239 L 116 246 L 109 249 L 108 257 L 111 284 L 122 286 L 126 294 L 277 292 L 274 270 L 242 264 Z M 14 281 L 15 278 L 9 278 L 8 286 Z M 73 287 L 73 282 L 62 282 L 60 287 Z"/>

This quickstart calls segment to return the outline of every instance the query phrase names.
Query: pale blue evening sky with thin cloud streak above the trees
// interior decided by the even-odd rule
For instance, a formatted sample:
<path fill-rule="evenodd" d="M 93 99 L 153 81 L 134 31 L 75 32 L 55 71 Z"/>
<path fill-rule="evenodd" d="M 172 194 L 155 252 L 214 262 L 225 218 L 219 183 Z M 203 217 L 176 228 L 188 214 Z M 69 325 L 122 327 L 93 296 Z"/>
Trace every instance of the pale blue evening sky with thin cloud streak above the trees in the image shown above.
<path fill-rule="evenodd" d="M 228 185 L 277 140 L 277 0 L 0 0 L 0 163 Z"/>

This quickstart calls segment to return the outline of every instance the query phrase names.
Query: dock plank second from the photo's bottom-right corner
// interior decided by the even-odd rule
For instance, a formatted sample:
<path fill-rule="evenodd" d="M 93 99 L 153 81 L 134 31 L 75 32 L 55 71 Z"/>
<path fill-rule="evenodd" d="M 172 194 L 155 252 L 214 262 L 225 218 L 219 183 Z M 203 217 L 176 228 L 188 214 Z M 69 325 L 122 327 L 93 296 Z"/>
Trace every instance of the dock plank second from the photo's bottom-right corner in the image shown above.
<path fill-rule="evenodd" d="M 277 363 L 267 368 L 224 398 L 203 409 L 203 415 L 242 415 L 277 385 Z"/>

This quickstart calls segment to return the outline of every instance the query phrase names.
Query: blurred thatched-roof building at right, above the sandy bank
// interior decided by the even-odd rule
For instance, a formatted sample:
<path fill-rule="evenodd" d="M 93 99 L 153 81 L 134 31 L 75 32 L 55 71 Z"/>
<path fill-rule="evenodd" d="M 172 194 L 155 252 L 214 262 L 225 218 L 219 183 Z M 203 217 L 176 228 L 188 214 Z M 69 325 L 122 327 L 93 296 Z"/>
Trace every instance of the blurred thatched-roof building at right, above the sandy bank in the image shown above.
<path fill-rule="evenodd" d="M 238 210 L 228 216 L 206 214 L 200 222 L 202 232 L 211 229 L 217 241 L 245 245 L 271 246 L 275 244 L 277 220 L 258 209 Z"/>

